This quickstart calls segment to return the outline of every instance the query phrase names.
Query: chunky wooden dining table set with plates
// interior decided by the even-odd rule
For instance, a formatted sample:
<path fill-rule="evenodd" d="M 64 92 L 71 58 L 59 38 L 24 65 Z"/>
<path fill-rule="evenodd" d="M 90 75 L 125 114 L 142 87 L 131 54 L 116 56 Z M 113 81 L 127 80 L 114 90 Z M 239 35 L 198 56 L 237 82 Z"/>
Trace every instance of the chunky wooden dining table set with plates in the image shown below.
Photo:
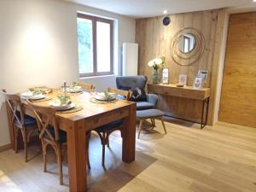
<path fill-rule="evenodd" d="M 53 90 L 49 93 L 51 101 L 56 100 L 56 96 L 60 93 L 61 90 Z M 122 160 L 125 163 L 135 160 L 136 103 L 125 100 L 95 103 L 90 101 L 91 97 L 90 93 L 86 92 L 71 94 L 72 101 L 83 109 L 73 113 L 55 113 L 59 128 L 67 132 L 69 189 L 72 192 L 87 191 L 86 131 L 94 130 L 98 126 L 106 125 L 117 119 L 123 119 Z M 35 104 L 49 106 L 49 102 L 50 100 Z M 23 106 L 26 114 L 34 116 L 26 102 Z M 7 111 L 10 119 L 9 108 Z M 15 144 L 13 125 L 9 126 L 12 144 Z"/>

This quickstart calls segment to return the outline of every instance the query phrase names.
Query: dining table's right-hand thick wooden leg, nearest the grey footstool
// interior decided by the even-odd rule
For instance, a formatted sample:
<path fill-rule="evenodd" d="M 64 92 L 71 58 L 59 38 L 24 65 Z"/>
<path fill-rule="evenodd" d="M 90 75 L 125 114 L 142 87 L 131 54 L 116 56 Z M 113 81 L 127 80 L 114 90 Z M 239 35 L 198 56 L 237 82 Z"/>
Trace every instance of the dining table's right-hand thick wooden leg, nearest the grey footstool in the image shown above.
<path fill-rule="evenodd" d="M 133 160 L 135 160 L 135 140 L 136 140 L 136 103 L 131 105 L 130 115 L 124 119 L 122 159 L 126 163 L 131 163 Z"/>

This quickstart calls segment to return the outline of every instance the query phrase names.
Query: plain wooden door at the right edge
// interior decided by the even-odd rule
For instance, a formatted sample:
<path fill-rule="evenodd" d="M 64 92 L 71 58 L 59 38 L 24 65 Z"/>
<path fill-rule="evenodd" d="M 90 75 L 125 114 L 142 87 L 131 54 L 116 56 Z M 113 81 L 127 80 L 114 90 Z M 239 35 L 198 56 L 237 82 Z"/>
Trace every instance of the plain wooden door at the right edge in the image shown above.
<path fill-rule="evenodd" d="M 219 120 L 256 127 L 256 12 L 230 15 Z"/>

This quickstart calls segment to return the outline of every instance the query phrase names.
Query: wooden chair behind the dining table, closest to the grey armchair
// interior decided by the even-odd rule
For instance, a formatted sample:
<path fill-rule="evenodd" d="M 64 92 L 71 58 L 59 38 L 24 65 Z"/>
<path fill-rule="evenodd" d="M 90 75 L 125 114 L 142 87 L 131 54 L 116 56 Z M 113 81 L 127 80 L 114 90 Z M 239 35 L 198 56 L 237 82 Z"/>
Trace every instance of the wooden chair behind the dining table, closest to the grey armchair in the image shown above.
<path fill-rule="evenodd" d="M 115 88 L 108 88 L 108 92 L 113 92 L 118 94 L 119 96 L 124 96 L 125 100 L 129 100 L 131 96 L 131 92 L 127 90 L 118 90 Z M 109 136 L 113 131 L 121 131 L 121 137 L 123 137 L 122 134 L 122 128 L 123 128 L 123 120 L 119 119 L 116 121 L 113 121 L 107 125 L 102 125 L 100 127 L 97 127 L 95 129 L 96 133 L 101 138 L 102 142 L 102 166 L 105 167 L 105 146 L 108 145 L 109 148 Z"/>

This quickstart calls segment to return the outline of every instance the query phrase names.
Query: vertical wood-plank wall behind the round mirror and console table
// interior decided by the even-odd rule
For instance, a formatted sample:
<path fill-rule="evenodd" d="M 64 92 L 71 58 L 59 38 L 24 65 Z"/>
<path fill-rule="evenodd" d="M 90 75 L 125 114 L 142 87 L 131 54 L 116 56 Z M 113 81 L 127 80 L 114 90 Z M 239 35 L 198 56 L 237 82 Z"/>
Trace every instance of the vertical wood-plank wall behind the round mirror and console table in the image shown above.
<path fill-rule="evenodd" d="M 199 69 L 208 70 L 207 87 L 211 87 L 208 122 L 212 125 L 225 9 L 169 16 L 172 20 L 169 26 L 163 26 L 163 17 L 137 20 L 136 42 L 139 44 L 139 74 L 148 76 L 150 80 L 152 68 L 148 67 L 148 61 L 157 55 L 166 56 L 166 67 L 169 68 L 171 84 L 177 83 L 179 74 L 186 74 L 188 75 L 188 85 L 192 85 Z M 170 46 L 175 34 L 186 27 L 194 27 L 199 30 L 205 38 L 206 45 L 204 53 L 198 61 L 190 66 L 180 66 L 172 60 Z M 158 108 L 181 118 L 189 116 L 193 120 L 199 120 L 201 115 L 200 102 L 172 96 L 160 96 Z"/>

